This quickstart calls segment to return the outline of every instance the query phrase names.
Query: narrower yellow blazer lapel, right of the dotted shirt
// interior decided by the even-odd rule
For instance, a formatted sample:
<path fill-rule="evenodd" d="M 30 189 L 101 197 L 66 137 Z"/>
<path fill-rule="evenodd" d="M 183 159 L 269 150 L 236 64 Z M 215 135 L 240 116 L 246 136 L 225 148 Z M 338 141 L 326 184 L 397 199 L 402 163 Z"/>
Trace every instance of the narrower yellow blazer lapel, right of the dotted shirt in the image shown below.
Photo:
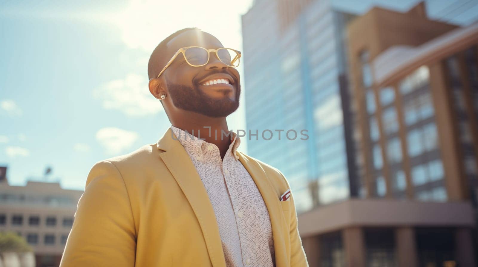
<path fill-rule="evenodd" d="M 264 203 L 269 211 L 269 217 L 271 218 L 272 237 L 274 238 L 274 254 L 275 254 L 275 266 L 276 267 L 288 267 L 289 259 L 288 253 L 285 248 L 285 234 L 284 223 L 285 218 L 282 212 L 282 208 L 279 203 L 279 197 L 274 193 L 274 187 L 271 180 L 267 177 L 266 172 L 262 167 L 252 160 L 249 160 L 241 152 L 238 151 L 239 161 L 247 169 L 250 176 L 256 183 L 259 192 L 261 192 Z"/>

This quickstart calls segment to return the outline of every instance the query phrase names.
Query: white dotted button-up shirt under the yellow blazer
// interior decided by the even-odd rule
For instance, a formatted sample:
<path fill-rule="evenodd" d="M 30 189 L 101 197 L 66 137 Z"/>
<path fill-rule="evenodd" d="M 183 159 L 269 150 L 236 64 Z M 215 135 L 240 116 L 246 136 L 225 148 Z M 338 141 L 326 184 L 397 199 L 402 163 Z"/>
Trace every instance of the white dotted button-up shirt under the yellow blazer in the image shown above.
<path fill-rule="evenodd" d="M 194 136 L 191 139 L 190 134 L 174 126 L 171 129 L 206 188 L 216 214 L 226 266 L 274 267 L 271 218 L 254 180 L 236 157 L 240 138 L 232 133 L 234 139 L 221 159 L 216 145 Z"/>

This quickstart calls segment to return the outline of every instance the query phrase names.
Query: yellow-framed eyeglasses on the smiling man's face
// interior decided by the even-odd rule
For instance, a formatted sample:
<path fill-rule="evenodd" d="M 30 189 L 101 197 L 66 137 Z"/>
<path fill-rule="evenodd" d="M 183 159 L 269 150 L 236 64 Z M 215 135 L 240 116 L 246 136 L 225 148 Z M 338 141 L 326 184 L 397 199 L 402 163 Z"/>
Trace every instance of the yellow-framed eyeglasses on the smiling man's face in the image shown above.
<path fill-rule="evenodd" d="M 236 68 L 239 66 L 239 58 L 241 56 L 240 51 L 231 48 L 221 47 L 218 49 L 205 49 L 204 47 L 200 46 L 188 46 L 180 48 L 174 56 L 169 60 L 168 64 L 161 70 L 158 74 L 158 78 L 161 74 L 163 74 L 164 70 L 166 70 L 171 63 L 173 63 L 174 59 L 179 55 L 183 54 L 184 59 L 186 60 L 187 64 L 193 67 L 201 67 L 207 64 L 210 59 L 210 53 L 214 52 L 216 57 L 221 60 L 224 64 L 228 65 L 228 67 Z"/>

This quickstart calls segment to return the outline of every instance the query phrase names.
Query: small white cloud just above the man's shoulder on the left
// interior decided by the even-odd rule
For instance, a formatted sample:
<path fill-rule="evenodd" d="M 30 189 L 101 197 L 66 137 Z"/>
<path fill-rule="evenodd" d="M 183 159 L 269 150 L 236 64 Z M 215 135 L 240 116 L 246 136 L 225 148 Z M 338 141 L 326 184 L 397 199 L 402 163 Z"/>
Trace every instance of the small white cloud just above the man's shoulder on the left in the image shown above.
<path fill-rule="evenodd" d="M 126 148 L 130 148 L 136 140 L 138 133 L 119 128 L 102 128 L 96 133 L 98 142 L 107 149 L 109 154 L 118 154 Z"/>

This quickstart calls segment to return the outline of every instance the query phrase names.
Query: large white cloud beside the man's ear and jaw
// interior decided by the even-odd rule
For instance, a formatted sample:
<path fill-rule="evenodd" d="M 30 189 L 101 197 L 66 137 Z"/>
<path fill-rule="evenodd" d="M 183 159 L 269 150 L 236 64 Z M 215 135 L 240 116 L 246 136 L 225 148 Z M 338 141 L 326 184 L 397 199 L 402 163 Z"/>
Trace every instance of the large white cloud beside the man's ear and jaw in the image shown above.
<path fill-rule="evenodd" d="M 147 116 L 158 113 L 163 106 L 148 89 L 146 75 L 128 74 L 124 79 L 112 80 L 94 91 L 105 109 L 119 109 L 128 116 Z"/>

